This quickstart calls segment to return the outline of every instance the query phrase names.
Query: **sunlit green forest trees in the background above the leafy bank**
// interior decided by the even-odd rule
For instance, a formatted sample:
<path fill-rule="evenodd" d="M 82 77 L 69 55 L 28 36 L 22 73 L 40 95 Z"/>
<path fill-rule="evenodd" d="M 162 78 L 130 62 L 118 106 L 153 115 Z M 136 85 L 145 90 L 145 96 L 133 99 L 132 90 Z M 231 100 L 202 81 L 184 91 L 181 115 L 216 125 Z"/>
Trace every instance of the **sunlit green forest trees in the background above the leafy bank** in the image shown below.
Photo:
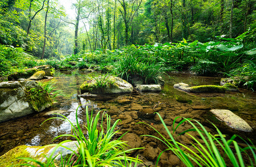
<path fill-rule="evenodd" d="M 74 13 L 65 13 L 60 0 L 3 0 L 0 44 L 60 59 L 131 44 L 216 41 L 248 30 L 253 35 L 255 7 L 253 0 L 74 0 Z"/>

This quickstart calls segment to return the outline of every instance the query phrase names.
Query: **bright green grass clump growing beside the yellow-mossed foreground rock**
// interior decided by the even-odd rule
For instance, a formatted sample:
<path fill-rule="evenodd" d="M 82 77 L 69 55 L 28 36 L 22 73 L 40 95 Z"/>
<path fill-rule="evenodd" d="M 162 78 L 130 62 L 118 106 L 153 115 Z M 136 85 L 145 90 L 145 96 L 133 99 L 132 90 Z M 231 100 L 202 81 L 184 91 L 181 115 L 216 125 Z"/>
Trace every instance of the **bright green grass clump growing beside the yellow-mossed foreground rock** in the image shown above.
<path fill-rule="evenodd" d="M 78 108 L 77 108 L 78 111 Z M 87 135 L 84 135 L 84 132 L 82 128 L 79 125 L 78 121 L 78 113 L 76 111 L 76 122 L 71 122 L 67 117 L 64 115 L 60 115 L 61 117 L 52 117 L 51 119 L 60 119 L 63 121 L 69 122 L 72 128 L 73 134 L 65 134 L 60 135 L 58 137 L 55 137 L 55 139 L 58 139 L 59 137 L 63 136 L 70 136 L 74 137 L 74 139 L 77 140 L 78 144 L 78 152 L 74 150 L 72 155 L 69 156 L 69 158 L 61 159 L 60 164 L 56 164 L 58 166 L 127 166 L 132 162 L 136 162 L 136 164 L 139 162 L 141 163 L 138 158 L 131 158 L 130 156 L 126 156 L 126 153 L 129 153 L 132 150 L 141 149 L 141 148 L 134 148 L 134 149 L 127 149 L 125 148 L 128 146 L 125 141 L 121 141 L 120 138 L 117 140 L 113 140 L 113 137 L 118 133 L 118 131 L 115 130 L 117 123 L 120 120 L 116 120 L 113 125 L 111 126 L 111 118 L 105 112 L 102 114 L 101 118 L 101 112 L 98 112 L 96 116 L 94 117 L 92 114 L 89 115 L 88 107 L 86 107 L 86 121 L 87 124 L 84 125 L 87 130 Z M 99 122 L 99 120 L 106 119 L 107 125 L 106 127 L 103 127 L 103 124 Z M 48 121 L 46 120 L 46 121 Z M 100 124 L 100 128 L 98 130 L 98 125 Z M 105 129 L 106 128 L 106 129 Z M 59 145 L 61 146 L 64 143 L 67 143 L 70 140 L 62 141 Z M 67 148 L 66 148 L 67 149 Z M 54 151 L 53 151 L 54 154 Z M 46 163 L 41 163 L 38 160 L 31 159 L 31 158 L 22 158 L 26 160 L 28 163 L 30 161 L 36 163 L 40 166 L 55 166 L 53 154 L 50 155 L 49 158 L 47 158 Z M 75 157 L 74 160 L 72 160 L 72 157 Z M 129 165 L 131 166 L 131 165 Z"/>

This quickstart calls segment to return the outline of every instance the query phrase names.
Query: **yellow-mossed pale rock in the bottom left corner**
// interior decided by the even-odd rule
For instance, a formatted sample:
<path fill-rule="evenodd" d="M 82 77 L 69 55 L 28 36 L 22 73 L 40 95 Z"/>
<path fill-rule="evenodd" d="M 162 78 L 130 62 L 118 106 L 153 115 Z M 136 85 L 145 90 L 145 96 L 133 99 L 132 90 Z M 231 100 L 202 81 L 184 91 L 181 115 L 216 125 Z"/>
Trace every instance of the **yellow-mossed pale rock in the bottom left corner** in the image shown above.
<path fill-rule="evenodd" d="M 61 145 L 46 145 L 46 146 L 26 146 L 21 145 L 16 148 L 8 151 L 6 154 L 0 156 L 0 162 L 2 162 L 2 166 L 15 166 L 17 164 L 25 163 L 18 158 L 32 158 L 42 163 L 46 163 L 46 158 L 55 158 L 55 163 L 60 163 L 61 156 L 65 158 L 73 153 L 73 151 L 77 151 L 78 143 L 77 141 L 70 141 Z M 68 149 L 67 149 L 68 148 Z M 45 156 L 44 156 L 45 155 Z M 35 165 L 32 162 L 31 165 Z M 20 166 L 20 165 L 19 165 Z"/>

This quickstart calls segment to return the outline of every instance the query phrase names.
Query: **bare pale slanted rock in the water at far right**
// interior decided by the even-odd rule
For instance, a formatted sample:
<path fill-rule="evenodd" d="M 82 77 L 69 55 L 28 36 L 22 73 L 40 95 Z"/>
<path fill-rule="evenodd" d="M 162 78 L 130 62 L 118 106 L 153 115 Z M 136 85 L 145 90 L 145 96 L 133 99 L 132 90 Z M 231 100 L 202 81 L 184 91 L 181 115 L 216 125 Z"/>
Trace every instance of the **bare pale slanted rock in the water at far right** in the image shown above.
<path fill-rule="evenodd" d="M 253 131 L 252 127 L 250 127 L 250 125 L 245 120 L 241 119 L 241 117 L 235 115 L 230 110 L 214 109 L 210 110 L 210 112 L 215 114 L 216 117 L 221 121 L 224 121 L 225 124 L 229 127 L 241 131 Z"/>

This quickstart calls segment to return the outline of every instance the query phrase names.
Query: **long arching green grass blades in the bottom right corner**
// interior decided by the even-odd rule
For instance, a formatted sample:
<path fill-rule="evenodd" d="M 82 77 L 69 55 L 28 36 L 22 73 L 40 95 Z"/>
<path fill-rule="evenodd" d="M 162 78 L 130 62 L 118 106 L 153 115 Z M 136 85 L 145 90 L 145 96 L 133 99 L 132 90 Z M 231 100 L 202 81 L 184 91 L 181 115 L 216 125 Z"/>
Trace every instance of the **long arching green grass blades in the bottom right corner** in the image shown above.
<path fill-rule="evenodd" d="M 183 118 L 183 120 L 180 121 L 176 126 L 176 120 L 179 117 L 174 119 L 173 132 L 171 133 L 160 114 L 157 113 L 157 115 L 159 116 L 170 139 L 164 137 L 151 125 L 149 126 L 152 127 L 161 138 L 152 135 L 144 136 L 151 136 L 162 141 L 167 146 L 167 149 L 164 151 L 172 151 L 186 166 L 194 166 L 194 163 L 198 166 L 228 166 L 229 163 L 234 166 L 256 165 L 256 148 L 251 141 L 249 144 L 238 135 L 233 135 L 229 140 L 227 140 L 224 137 L 225 135 L 222 134 L 214 124 L 212 125 L 216 128 L 217 134 L 211 134 L 197 120 Z M 184 122 L 188 122 L 188 124 L 192 125 L 193 129 L 184 130 L 178 135 L 186 134 L 188 137 L 191 137 L 191 139 L 195 141 L 195 143 L 191 143 L 192 148 L 179 143 L 176 141 L 174 136 L 174 132 L 176 132 L 178 127 Z M 200 139 L 197 139 L 195 136 L 189 134 L 190 131 L 195 131 L 197 136 L 200 136 Z M 243 148 L 239 146 L 239 143 L 235 140 L 236 137 L 239 137 L 239 140 L 243 140 L 246 146 Z M 164 151 L 162 151 L 162 153 L 160 153 L 158 156 L 157 163 Z M 249 161 L 247 161 L 245 158 L 248 158 Z"/>

